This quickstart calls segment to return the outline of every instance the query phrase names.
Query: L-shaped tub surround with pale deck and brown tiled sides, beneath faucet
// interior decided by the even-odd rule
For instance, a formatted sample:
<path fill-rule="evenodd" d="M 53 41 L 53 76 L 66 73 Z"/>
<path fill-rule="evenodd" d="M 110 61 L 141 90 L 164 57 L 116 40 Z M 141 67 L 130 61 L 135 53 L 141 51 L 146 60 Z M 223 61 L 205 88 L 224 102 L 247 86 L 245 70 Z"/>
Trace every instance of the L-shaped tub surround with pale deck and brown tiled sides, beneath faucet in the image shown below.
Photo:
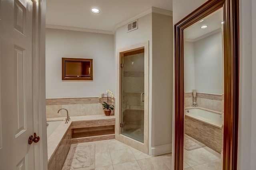
<path fill-rule="evenodd" d="M 88 116 L 71 116 L 71 120 L 65 124 L 66 117 L 56 117 L 56 118 L 47 118 L 47 121 L 62 121 L 60 125 L 53 131 L 53 133 L 47 139 L 47 149 L 48 149 L 48 170 L 61 170 L 62 166 L 66 160 L 68 150 L 72 143 L 72 129 L 91 127 L 101 125 L 100 122 L 108 125 L 108 122 L 115 122 L 114 116 L 105 116 L 105 115 L 88 115 Z M 110 121 L 108 121 L 110 119 Z M 94 121 L 95 120 L 95 121 Z M 105 120 L 105 121 L 104 121 Z M 87 122 L 88 125 L 87 125 Z M 90 122 L 94 122 L 93 125 Z M 109 123 L 111 124 L 111 123 Z M 114 127 L 113 127 L 114 129 Z M 95 130 L 95 129 L 94 129 Z M 97 129 L 98 131 L 102 129 Z M 113 132 L 114 133 L 114 132 Z M 112 135 L 113 139 L 114 135 Z M 98 137 L 96 140 L 105 140 L 104 137 Z"/>

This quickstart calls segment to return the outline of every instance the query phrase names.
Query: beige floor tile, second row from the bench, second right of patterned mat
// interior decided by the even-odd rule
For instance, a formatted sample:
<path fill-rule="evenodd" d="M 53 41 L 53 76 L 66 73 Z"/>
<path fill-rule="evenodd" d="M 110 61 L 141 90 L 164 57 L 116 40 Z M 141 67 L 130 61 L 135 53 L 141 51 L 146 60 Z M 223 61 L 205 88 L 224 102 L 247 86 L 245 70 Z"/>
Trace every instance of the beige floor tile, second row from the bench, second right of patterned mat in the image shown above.
<path fill-rule="evenodd" d="M 136 160 L 130 149 L 111 150 L 110 155 L 113 164 Z"/>

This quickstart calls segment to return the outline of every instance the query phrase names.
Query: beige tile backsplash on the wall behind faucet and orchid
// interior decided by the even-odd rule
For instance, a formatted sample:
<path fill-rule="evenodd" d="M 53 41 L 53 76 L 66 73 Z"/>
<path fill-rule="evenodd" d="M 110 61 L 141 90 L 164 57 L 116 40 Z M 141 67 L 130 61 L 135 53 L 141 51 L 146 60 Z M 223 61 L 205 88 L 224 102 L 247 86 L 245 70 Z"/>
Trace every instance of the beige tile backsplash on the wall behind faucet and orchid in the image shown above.
<path fill-rule="evenodd" d="M 111 98 L 109 98 L 109 101 L 111 101 Z M 103 102 L 107 102 L 107 98 L 46 99 L 46 117 L 66 117 L 65 110 L 58 113 L 61 108 L 68 109 L 70 116 L 101 115 L 104 114 L 101 104 Z M 112 102 L 108 104 L 114 105 Z M 111 115 L 114 115 L 114 111 L 111 112 Z"/>

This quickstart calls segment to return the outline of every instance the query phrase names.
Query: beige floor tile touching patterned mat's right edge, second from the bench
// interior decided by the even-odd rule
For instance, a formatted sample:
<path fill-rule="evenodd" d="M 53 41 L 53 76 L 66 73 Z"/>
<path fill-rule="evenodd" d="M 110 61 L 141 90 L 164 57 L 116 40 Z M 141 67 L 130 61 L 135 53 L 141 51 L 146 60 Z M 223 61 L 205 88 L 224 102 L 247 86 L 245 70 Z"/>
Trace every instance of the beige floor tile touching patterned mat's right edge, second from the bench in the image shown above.
<path fill-rule="evenodd" d="M 99 152 L 95 154 L 95 168 L 112 165 L 109 152 Z"/>

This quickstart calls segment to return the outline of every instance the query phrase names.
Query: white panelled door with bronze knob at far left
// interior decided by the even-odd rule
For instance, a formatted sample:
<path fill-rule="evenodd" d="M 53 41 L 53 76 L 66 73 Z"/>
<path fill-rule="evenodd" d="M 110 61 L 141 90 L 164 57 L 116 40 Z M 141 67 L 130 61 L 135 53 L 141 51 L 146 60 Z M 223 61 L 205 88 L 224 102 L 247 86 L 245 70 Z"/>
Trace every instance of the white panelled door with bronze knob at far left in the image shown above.
<path fill-rule="evenodd" d="M 37 170 L 33 64 L 38 0 L 0 0 L 0 169 Z M 38 133 L 38 132 L 35 132 Z"/>

